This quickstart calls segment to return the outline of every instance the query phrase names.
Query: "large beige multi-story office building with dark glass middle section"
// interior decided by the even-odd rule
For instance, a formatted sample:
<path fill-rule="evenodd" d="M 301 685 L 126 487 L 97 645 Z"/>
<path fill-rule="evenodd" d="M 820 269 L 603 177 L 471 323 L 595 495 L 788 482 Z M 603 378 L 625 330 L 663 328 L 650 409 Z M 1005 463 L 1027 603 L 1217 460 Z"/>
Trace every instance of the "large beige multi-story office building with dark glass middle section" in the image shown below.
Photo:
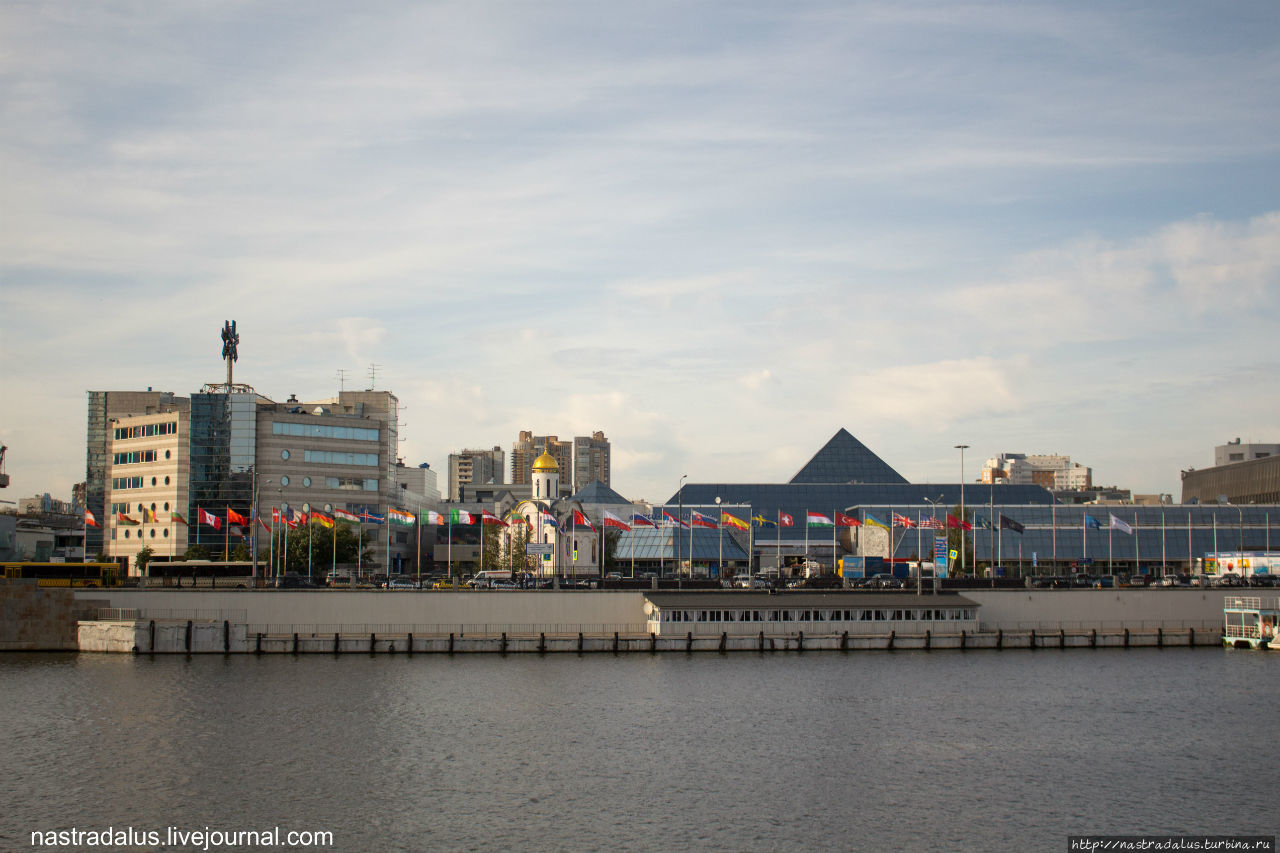
<path fill-rule="evenodd" d="M 384 391 L 283 403 L 246 386 L 206 386 L 189 398 L 91 392 L 86 492 L 100 526 L 88 528 L 88 553 L 132 562 L 143 547 L 165 560 L 202 546 L 221 557 L 239 544 L 261 549 L 266 530 L 252 520 L 273 507 L 380 517 L 434 506 L 434 471 L 408 476 L 412 498 L 401 487 L 401 474 L 417 469 L 396 456 L 397 406 Z M 219 526 L 201 524 L 204 514 Z M 246 521 L 230 524 L 236 516 Z M 394 569 L 412 547 L 402 529 L 369 535 L 379 566 Z"/>

